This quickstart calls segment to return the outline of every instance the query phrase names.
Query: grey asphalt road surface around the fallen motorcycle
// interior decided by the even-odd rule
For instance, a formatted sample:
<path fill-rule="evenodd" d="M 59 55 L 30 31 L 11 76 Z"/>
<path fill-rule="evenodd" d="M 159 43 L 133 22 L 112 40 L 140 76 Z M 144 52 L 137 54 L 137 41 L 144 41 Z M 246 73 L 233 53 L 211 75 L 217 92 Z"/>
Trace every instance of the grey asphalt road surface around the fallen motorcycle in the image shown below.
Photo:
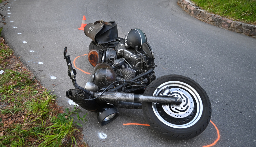
<path fill-rule="evenodd" d="M 64 47 L 72 61 L 80 56 L 77 68 L 93 71 L 87 56 L 82 56 L 88 53 L 91 39 L 77 29 L 83 15 L 87 23 L 115 20 L 120 37 L 133 28 L 145 32 L 154 50 L 157 77 L 184 75 L 206 90 L 212 104 L 211 121 L 220 133 L 214 146 L 255 146 L 256 39 L 201 22 L 187 15 L 177 0 L 10 0 L 8 7 L 1 12 L 6 15 L 5 40 L 42 85 L 54 90 L 60 105 L 73 107 L 65 97 L 73 86 Z M 78 84 L 85 87 L 89 76 L 77 70 Z M 120 109 L 120 116 L 103 127 L 95 113 L 82 113 L 88 113 L 83 134 L 91 147 L 205 146 L 218 138 L 212 123 L 186 141 L 167 140 L 148 126 L 123 125 L 146 124 L 142 110 Z"/>

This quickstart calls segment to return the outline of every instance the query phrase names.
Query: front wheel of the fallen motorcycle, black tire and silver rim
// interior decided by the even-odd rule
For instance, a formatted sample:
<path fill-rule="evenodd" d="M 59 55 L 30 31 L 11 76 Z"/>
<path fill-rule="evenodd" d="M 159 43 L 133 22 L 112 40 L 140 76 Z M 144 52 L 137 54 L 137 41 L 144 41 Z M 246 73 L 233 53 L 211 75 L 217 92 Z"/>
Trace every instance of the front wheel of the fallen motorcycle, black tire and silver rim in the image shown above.
<path fill-rule="evenodd" d="M 182 75 L 165 75 L 149 86 L 166 89 L 157 91 L 147 87 L 144 95 L 175 95 L 183 101 L 180 105 L 142 102 L 146 121 L 158 134 L 172 140 L 187 140 L 206 129 L 211 118 L 211 103 L 199 84 Z"/>

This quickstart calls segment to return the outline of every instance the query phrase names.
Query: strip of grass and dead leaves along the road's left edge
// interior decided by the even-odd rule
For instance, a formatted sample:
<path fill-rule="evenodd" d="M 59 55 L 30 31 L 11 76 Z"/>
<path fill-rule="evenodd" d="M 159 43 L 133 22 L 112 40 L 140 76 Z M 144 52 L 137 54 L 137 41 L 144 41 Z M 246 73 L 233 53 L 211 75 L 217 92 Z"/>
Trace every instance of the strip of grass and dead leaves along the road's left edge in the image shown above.
<path fill-rule="evenodd" d="M 74 126 L 77 122 L 70 117 L 78 115 L 76 107 L 69 111 L 58 106 L 56 96 L 13 56 L 3 37 L 0 67 L 4 71 L 0 74 L 0 146 L 87 146 L 82 129 Z M 86 121 L 85 116 L 77 119 Z"/>

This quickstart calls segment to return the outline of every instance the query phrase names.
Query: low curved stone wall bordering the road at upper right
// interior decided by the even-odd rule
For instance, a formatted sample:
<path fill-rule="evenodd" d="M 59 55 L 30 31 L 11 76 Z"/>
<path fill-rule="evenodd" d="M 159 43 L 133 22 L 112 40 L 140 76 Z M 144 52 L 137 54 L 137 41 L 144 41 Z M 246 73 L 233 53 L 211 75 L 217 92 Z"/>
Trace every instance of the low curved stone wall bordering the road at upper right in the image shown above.
<path fill-rule="evenodd" d="M 193 4 L 189 0 L 178 0 L 177 4 L 189 15 L 203 22 L 218 26 L 225 30 L 230 30 L 233 32 L 241 33 L 241 34 L 256 38 L 255 25 L 242 23 L 239 21 L 232 21 L 230 19 L 226 19 L 218 15 L 210 14 L 205 10 L 202 10 L 199 7 L 197 7 L 195 4 Z"/>

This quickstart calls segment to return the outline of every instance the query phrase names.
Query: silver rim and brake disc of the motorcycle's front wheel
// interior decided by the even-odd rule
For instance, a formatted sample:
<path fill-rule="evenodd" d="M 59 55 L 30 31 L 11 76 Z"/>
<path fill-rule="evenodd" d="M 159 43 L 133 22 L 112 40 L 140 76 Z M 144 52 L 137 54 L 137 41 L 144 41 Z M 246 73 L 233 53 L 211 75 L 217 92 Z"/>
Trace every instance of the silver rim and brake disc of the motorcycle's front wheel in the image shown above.
<path fill-rule="evenodd" d="M 179 108 L 177 105 L 175 105 L 176 108 L 172 108 L 172 106 L 170 106 L 170 104 L 165 104 L 165 103 L 159 104 L 157 102 L 152 102 L 153 111 L 154 111 L 155 115 L 157 116 L 157 118 L 165 125 L 173 127 L 173 128 L 179 128 L 179 129 L 188 128 L 188 127 L 191 127 L 194 124 L 196 124 L 199 121 L 199 119 L 202 115 L 202 111 L 203 111 L 202 100 L 201 100 L 198 92 L 194 88 L 189 86 L 188 84 L 180 82 L 180 81 L 165 82 L 165 83 L 161 84 L 160 86 L 158 86 L 157 88 L 165 89 L 167 87 L 172 87 L 172 88 L 170 88 L 170 90 L 172 90 L 172 91 L 175 91 L 175 89 L 176 89 L 175 93 L 180 93 L 180 95 L 182 95 L 182 94 L 186 95 L 188 98 L 186 100 L 185 99 L 184 100 L 185 100 L 185 102 L 187 102 L 187 105 L 185 105 L 185 107 L 183 107 L 183 108 L 186 108 L 187 106 L 189 106 L 189 108 L 191 108 L 191 107 L 192 108 L 185 112 L 181 112 L 182 108 Z M 156 96 L 159 95 L 162 91 L 161 89 L 156 89 L 154 91 L 153 95 L 156 95 Z M 189 99 L 189 97 L 190 97 L 190 99 Z M 195 110 L 193 110 L 194 103 L 195 103 L 195 106 L 194 106 Z M 160 108 L 160 109 L 162 111 L 166 111 L 166 112 L 160 113 L 161 112 L 161 111 L 159 111 L 160 106 L 162 106 L 162 108 Z M 167 108 L 166 108 L 166 106 L 167 106 Z M 174 109 L 176 111 L 174 111 Z M 174 111 L 174 112 L 170 112 L 170 111 Z M 176 119 L 176 114 L 177 114 L 177 119 Z M 163 115 L 165 115 L 166 117 Z M 193 116 L 193 117 L 191 117 L 191 116 Z M 167 117 L 170 119 L 166 119 Z M 187 120 L 187 119 L 189 119 L 189 120 Z M 175 120 L 175 121 L 172 121 L 172 120 Z M 180 121 L 176 121 L 176 120 L 180 120 Z"/>

